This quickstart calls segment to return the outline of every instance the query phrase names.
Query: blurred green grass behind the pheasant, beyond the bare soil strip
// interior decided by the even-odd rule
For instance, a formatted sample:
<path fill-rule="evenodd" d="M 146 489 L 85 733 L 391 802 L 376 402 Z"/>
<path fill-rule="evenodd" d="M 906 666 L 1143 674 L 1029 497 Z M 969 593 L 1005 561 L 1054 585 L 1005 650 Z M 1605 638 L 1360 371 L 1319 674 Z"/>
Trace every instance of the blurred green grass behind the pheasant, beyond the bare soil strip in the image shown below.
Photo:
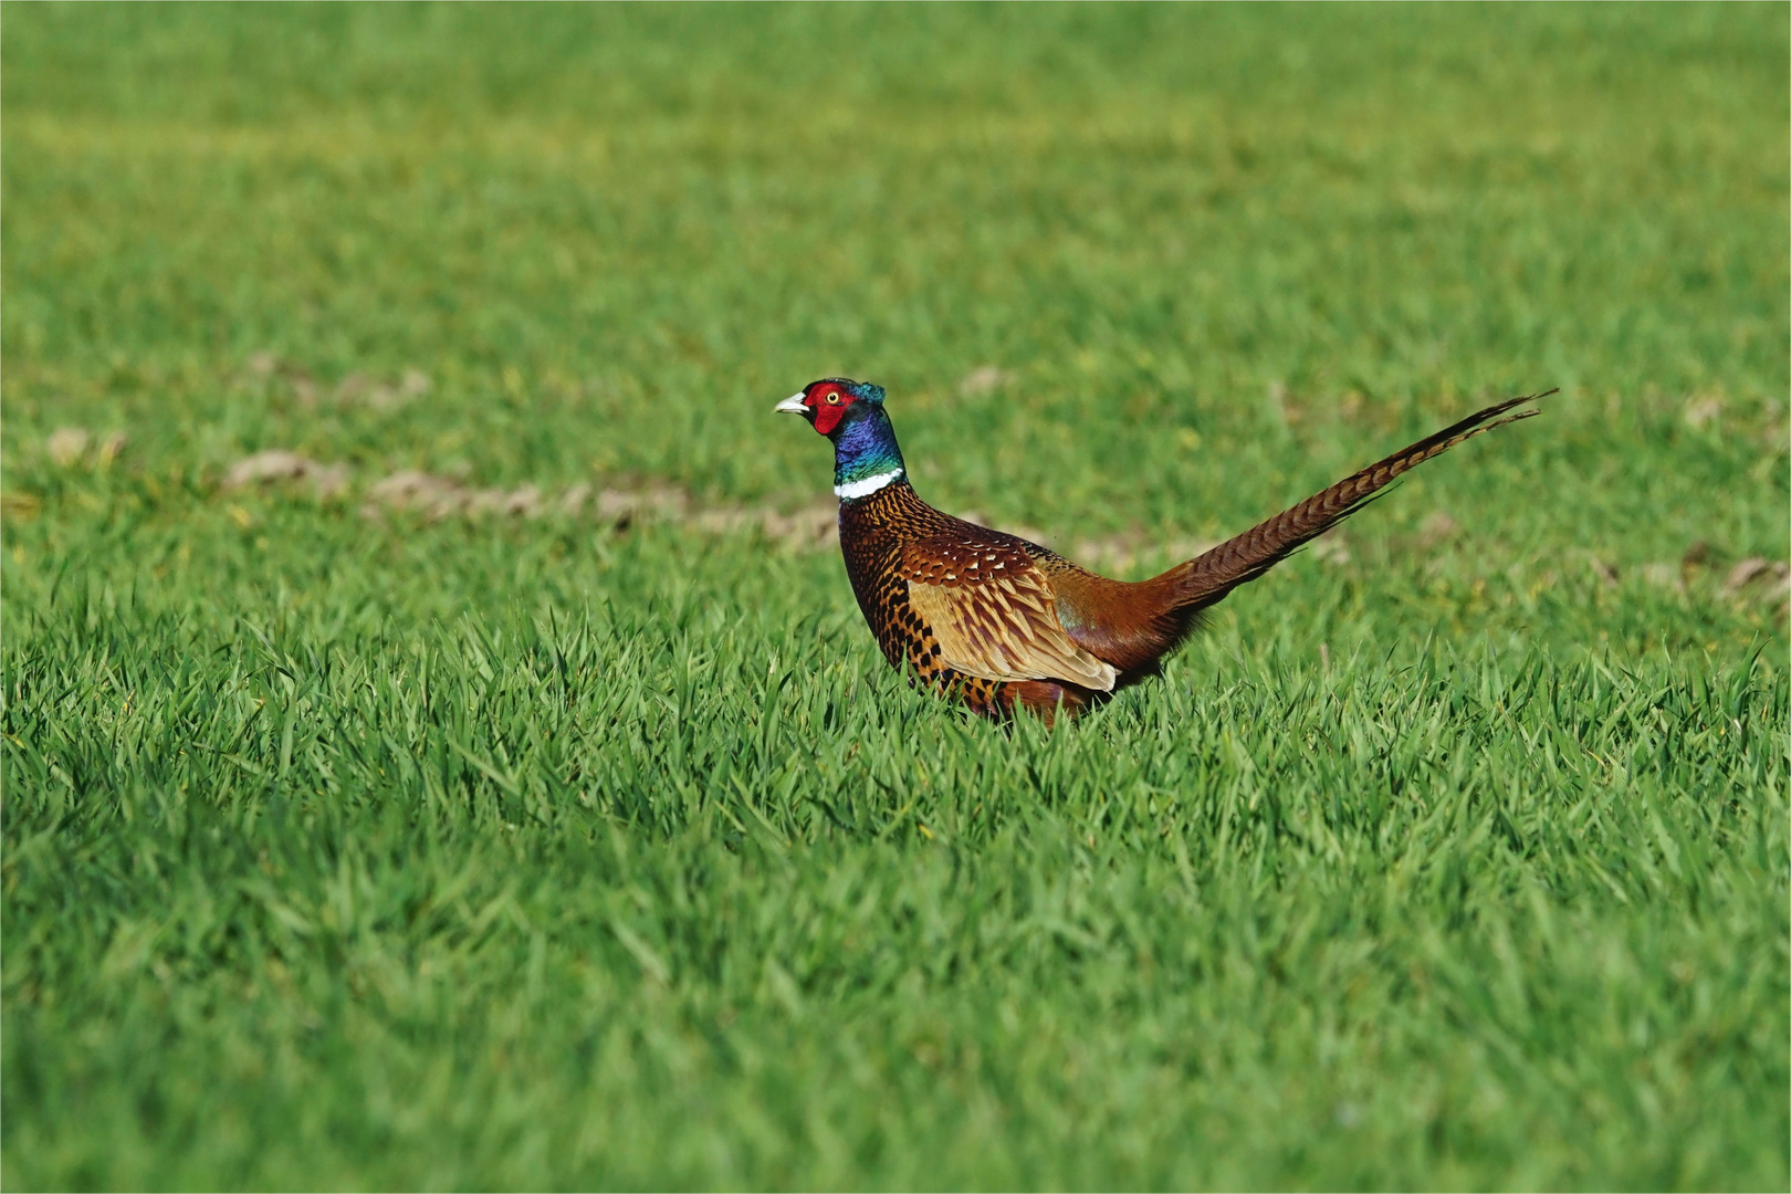
<path fill-rule="evenodd" d="M 1712 492 L 1680 419 L 1719 394 L 1757 456 L 1784 424 L 1771 36 L 1770 7 L 48 9 L 9 36 L 9 406 L 202 464 L 790 496 L 824 465 L 765 396 L 847 372 L 947 505 L 1220 533 L 1562 385 L 1564 537 L 1777 548 L 1784 469 Z M 254 351 L 437 392 L 294 417 L 222 385 Z M 981 365 L 1024 401 L 956 401 Z"/>

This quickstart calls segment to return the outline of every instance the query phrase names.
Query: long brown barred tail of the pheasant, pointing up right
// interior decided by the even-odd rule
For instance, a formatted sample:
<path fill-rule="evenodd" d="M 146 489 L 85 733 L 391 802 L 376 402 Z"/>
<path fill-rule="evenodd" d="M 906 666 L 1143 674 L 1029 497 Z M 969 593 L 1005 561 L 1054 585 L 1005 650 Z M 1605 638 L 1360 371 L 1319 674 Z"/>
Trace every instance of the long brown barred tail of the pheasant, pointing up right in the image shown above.
<path fill-rule="evenodd" d="M 1542 394 L 1508 397 L 1503 403 L 1476 412 L 1461 422 L 1420 439 L 1411 448 L 1395 451 L 1386 460 L 1370 464 L 1361 473 L 1343 478 L 1322 494 L 1313 494 L 1300 505 L 1257 523 L 1245 533 L 1227 539 L 1205 555 L 1198 555 L 1170 569 L 1159 576 L 1159 582 L 1171 585 L 1173 605 L 1184 612 L 1196 612 L 1213 605 L 1238 585 L 1255 580 L 1293 551 L 1347 519 L 1402 473 L 1415 469 L 1431 456 L 1444 455 L 1456 444 L 1470 440 L 1476 435 L 1542 414 L 1537 410 L 1521 410 L 1515 415 L 1504 415 L 1513 406 L 1544 399 L 1555 392 L 1544 390 Z M 1499 415 L 1504 417 L 1501 419 Z"/>

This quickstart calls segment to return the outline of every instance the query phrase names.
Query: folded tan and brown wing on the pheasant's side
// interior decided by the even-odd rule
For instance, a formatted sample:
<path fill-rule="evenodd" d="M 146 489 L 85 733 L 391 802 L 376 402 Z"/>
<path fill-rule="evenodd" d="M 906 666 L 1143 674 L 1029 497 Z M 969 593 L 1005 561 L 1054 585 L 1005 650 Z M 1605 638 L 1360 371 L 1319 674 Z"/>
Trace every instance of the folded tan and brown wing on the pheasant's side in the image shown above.
<path fill-rule="evenodd" d="M 933 535 L 903 548 L 908 603 L 940 659 L 983 680 L 1067 680 L 1110 693 L 1118 673 L 1064 632 L 1051 582 L 1015 544 Z"/>

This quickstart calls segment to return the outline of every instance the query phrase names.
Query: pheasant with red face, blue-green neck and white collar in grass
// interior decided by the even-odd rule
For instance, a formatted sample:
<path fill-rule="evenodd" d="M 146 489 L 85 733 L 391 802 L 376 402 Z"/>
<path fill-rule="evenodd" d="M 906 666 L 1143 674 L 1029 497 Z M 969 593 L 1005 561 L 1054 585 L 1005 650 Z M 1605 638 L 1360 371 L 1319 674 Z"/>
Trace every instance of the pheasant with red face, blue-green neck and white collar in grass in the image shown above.
<path fill-rule="evenodd" d="M 908 483 L 883 387 L 811 381 L 777 403 L 833 440 L 840 551 L 892 668 L 989 718 L 1080 714 L 1155 675 L 1202 614 L 1354 514 L 1402 473 L 1537 410 L 1528 394 L 1454 422 L 1161 576 L 1098 576 L 1017 535 L 965 523 Z M 1501 417 L 1503 415 L 1503 417 Z"/>

